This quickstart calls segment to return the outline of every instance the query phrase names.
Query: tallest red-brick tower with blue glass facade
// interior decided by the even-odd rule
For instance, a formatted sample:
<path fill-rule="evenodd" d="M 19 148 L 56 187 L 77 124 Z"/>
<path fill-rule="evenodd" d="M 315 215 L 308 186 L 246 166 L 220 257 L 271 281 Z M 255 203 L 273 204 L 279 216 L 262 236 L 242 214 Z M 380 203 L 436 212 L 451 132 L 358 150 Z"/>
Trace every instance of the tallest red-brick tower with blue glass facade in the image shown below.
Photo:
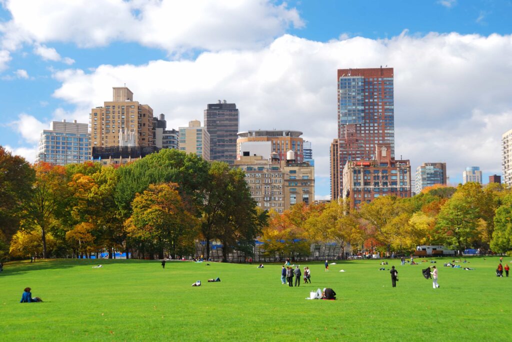
<path fill-rule="evenodd" d="M 331 178 L 331 188 L 336 181 L 339 189 L 343 188 L 343 168 L 347 161 L 373 159 L 377 144 L 390 146 L 389 154 L 394 157 L 393 78 L 391 67 L 337 71 L 339 157 L 331 170 L 339 168 L 339 179 Z M 331 195 L 339 196 L 339 190 L 331 191 Z"/>

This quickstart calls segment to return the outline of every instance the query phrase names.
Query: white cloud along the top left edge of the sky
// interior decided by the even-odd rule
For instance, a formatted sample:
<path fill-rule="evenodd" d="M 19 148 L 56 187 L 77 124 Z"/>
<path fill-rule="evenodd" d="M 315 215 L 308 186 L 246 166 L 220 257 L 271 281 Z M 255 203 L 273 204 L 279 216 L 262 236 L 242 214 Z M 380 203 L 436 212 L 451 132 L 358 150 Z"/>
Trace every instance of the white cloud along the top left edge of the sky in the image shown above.
<path fill-rule="evenodd" d="M 11 50 L 27 41 L 98 47 L 119 40 L 169 54 L 247 49 L 263 46 L 289 26 L 304 25 L 296 9 L 271 0 L 6 0 L 4 6 L 12 20 L 0 27 L 2 44 Z"/>

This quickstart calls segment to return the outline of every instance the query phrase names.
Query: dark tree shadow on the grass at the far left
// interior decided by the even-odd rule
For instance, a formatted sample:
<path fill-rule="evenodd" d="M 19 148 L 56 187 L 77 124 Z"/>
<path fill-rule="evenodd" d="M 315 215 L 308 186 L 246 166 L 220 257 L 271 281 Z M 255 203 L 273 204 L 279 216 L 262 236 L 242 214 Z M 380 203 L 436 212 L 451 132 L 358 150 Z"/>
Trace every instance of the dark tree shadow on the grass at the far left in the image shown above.
<path fill-rule="evenodd" d="M 137 263 L 160 263 L 160 260 L 142 260 L 142 259 L 37 259 L 36 262 L 30 260 L 11 261 L 4 263 L 4 271 L 0 277 L 11 275 L 20 275 L 27 272 L 47 270 L 47 269 L 66 269 L 77 266 L 94 265 L 113 265 L 113 264 L 137 264 Z"/>

